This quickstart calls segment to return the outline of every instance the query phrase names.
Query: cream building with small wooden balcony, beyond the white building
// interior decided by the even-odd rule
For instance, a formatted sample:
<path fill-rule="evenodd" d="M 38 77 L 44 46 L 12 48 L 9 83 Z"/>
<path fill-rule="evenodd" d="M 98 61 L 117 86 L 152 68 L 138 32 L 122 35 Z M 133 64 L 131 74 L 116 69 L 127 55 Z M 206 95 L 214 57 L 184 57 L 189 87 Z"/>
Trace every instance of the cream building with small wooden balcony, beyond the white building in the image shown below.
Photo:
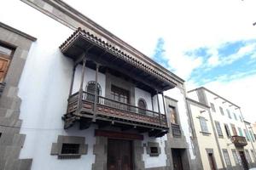
<path fill-rule="evenodd" d="M 241 108 L 207 88 L 188 93 L 194 140 L 204 169 L 248 169 L 256 166 L 255 138 Z"/>

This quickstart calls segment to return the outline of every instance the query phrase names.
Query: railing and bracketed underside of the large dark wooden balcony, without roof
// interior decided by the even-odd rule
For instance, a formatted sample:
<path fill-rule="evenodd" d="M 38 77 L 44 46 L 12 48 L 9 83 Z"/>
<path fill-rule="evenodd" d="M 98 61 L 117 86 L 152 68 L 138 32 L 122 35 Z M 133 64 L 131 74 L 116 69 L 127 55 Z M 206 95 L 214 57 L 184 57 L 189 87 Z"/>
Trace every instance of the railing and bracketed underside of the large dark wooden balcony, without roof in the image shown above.
<path fill-rule="evenodd" d="M 148 132 L 149 136 L 160 137 L 168 133 L 166 115 L 144 110 L 87 92 L 78 92 L 68 99 L 67 114 L 63 116 L 65 128 L 73 122 L 84 120 L 86 127 L 91 122 L 99 125 L 107 124 L 122 128 L 134 128 L 140 133 Z"/>

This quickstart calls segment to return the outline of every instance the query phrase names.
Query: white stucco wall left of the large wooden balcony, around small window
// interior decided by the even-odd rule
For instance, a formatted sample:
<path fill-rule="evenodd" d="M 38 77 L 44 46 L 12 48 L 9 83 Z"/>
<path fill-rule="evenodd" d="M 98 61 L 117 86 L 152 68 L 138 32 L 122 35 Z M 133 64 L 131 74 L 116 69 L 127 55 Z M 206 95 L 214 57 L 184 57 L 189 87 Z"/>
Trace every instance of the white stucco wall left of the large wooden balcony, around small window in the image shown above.
<path fill-rule="evenodd" d="M 26 134 L 20 158 L 32 158 L 32 170 L 90 169 L 95 159 L 93 127 L 65 131 L 61 120 L 67 109 L 73 61 L 61 54 L 59 46 L 73 31 L 18 0 L 1 3 L 0 20 L 38 38 L 32 43 L 19 84 L 20 133 Z M 66 134 L 84 136 L 88 154 L 76 160 L 50 156 L 51 144 Z"/>

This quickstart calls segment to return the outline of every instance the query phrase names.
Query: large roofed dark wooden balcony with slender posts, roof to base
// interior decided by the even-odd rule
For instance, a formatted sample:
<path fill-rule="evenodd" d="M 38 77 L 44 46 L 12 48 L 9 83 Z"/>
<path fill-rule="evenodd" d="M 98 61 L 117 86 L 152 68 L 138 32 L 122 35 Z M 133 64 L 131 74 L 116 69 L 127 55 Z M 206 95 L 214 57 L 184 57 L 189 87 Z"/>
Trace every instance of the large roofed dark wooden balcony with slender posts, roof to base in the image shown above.
<path fill-rule="evenodd" d="M 80 128 L 87 128 L 91 123 L 96 123 L 99 127 L 111 125 L 122 129 L 133 128 L 140 133 L 148 132 L 149 136 L 154 137 L 164 135 L 169 127 L 166 122 L 163 92 L 175 88 L 177 84 L 183 83 L 183 80 L 117 37 L 100 35 L 78 29 L 61 44 L 61 52 L 74 61 L 67 113 L 63 116 L 65 128 L 71 127 L 74 122 L 79 122 Z M 78 65 L 82 65 L 80 88 L 73 91 L 74 74 Z M 90 91 L 84 90 L 85 67 L 96 72 L 95 86 Z M 119 88 L 122 88 L 123 84 L 114 87 L 108 80 L 108 91 L 106 88 L 104 94 L 98 94 L 96 87 L 100 72 L 118 77 L 122 82 L 132 84 L 134 88 L 150 94 L 152 108 L 136 106 L 134 96 L 130 96 L 131 91 L 122 91 Z M 125 100 L 120 101 L 111 96 L 112 90 L 125 96 Z M 114 92 L 113 95 L 115 94 Z M 159 94 L 162 94 L 163 101 L 160 101 Z M 154 96 L 156 97 L 153 102 Z M 160 111 L 160 102 L 163 102 L 164 112 Z"/>

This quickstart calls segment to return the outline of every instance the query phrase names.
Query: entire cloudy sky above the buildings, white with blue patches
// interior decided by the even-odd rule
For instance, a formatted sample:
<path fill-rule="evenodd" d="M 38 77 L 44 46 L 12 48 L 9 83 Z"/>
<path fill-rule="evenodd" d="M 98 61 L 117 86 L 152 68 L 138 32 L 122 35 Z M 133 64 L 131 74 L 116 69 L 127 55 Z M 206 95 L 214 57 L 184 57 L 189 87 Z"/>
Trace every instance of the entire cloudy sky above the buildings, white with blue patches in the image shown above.
<path fill-rule="evenodd" d="M 183 78 L 188 90 L 205 86 L 256 122 L 255 0 L 64 1 Z"/>

